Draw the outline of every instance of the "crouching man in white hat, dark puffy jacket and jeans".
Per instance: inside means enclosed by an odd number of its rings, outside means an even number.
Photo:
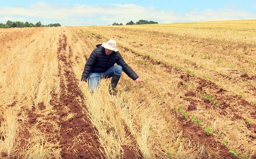
[[[114,66],[114,64],[117,64]],[[96,45],[96,48],[92,51],[88,58],[82,78],[78,86],[85,84],[87,81],[91,92],[95,87],[99,87],[100,79],[110,78],[111,84],[109,92],[116,95],[114,88],[121,77],[122,71],[124,71],[131,79],[136,82],[144,82],[139,76],[125,63],[123,57],[116,48],[116,41],[110,39],[106,43]]]

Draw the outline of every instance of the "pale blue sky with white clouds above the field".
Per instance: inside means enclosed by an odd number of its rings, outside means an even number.
[[[141,19],[158,23],[256,19],[256,0],[0,0],[0,23],[91,26]]]

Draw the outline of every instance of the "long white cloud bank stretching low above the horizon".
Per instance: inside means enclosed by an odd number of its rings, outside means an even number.
[[[113,4],[107,6],[91,5],[50,5],[37,2],[28,7],[0,7],[1,22],[7,20],[26,20],[29,22],[41,21],[42,24],[61,23],[62,25],[108,25],[113,22],[126,24],[145,19],[160,23],[188,22],[188,21],[213,21],[234,19],[256,19],[256,14],[246,11],[235,11],[231,9],[211,10],[198,9],[189,10],[178,14],[175,11],[158,10],[154,7],[142,7],[134,4]]]

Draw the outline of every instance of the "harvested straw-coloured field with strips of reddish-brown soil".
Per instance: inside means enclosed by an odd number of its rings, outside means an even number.
[[[109,39],[125,73],[78,87]],[[0,158],[256,158],[256,20],[0,29]]]

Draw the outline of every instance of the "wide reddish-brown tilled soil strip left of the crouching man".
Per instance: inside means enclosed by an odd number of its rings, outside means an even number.
[[[99,152],[100,143],[95,135],[90,121],[82,113],[82,107],[86,107],[83,102],[81,92],[77,89],[69,55],[66,53],[67,38],[66,35],[60,37],[59,48],[57,52],[59,60],[60,76],[60,99],[54,94],[50,101],[51,105],[58,110],[60,119],[58,121],[60,129],[60,145],[62,148],[62,158],[101,158]],[[80,102],[78,101],[80,99]],[[64,120],[67,115],[72,114],[68,120]]]

